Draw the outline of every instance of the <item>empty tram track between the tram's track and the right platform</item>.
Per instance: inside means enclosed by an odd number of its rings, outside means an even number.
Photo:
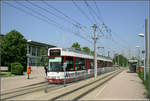
[[[115,73],[108,74],[100,79],[97,79],[96,81],[90,82],[88,84],[85,84],[83,86],[77,87],[71,91],[65,92],[59,96],[55,96],[49,100],[79,100],[80,98],[84,97],[88,93],[95,90],[97,87],[103,85],[119,73],[121,73],[122,70],[116,71]]]

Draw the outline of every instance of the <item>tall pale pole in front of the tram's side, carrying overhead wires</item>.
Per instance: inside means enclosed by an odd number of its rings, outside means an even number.
[[[97,53],[96,53],[96,40],[97,40],[97,37],[96,37],[96,24],[94,24],[94,76],[95,78],[97,77]]]

